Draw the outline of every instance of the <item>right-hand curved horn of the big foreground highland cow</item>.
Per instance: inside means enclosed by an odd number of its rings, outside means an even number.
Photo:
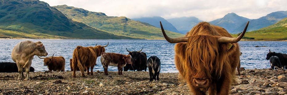
[[[247,30],[248,24],[249,24],[249,21],[247,22],[243,32],[238,37],[230,38],[230,37],[220,36],[220,37],[218,37],[218,42],[219,43],[237,43],[244,36],[244,34],[245,34],[246,30]]]

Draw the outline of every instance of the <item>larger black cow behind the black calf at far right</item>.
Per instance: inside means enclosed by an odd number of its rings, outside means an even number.
[[[284,69],[286,68],[285,66],[287,66],[287,54],[271,52],[269,49],[269,53],[267,54],[266,59],[269,60],[271,56],[277,56],[280,59],[281,65],[284,67]]]

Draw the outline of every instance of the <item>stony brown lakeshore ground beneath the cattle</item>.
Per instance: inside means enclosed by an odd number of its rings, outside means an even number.
[[[269,69],[247,69],[236,76],[231,86],[234,95],[284,95],[287,92],[287,71]],[[186,84],[177,80],[178,73],[161,73],[159,81],[149,82],[148,72],[128,71],[95,72],[85,78],[77,72],[30,72],[29,81],[16,80],[18,73],[0,73],[0,95],[2,94],[96,94],[96,95],[187,95]],[[286,94],[287,95],[287,94]]]

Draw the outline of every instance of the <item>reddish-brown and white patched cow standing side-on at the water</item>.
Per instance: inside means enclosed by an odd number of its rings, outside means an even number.
[[[123,75],[123,67],[126,66],[126,64],[131,64],[131,55],[103,52],[101,54],[101,62],[106,75],[108,75],[108,66],[117,66],[118,74]]]

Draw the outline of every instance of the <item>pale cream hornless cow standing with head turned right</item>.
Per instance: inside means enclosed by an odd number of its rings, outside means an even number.
[[[30,66],[34,55],[47,56],[48,53],[42,42],[32,42],[29,40],[18,43],[11,54],[12,60],[17,64],[19,77],[18,80],[24,78],[23,68],[26,69],[26,79],[29,80]]]

